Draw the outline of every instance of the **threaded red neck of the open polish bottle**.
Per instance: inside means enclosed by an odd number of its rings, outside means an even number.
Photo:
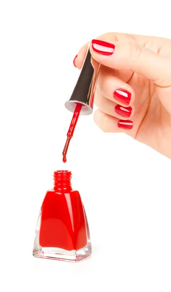
[[[53,180],[55,191],[70,191],[72,189],[71,172],[68,170],[54,171]]]

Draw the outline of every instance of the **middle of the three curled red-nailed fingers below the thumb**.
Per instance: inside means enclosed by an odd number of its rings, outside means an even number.
[[[104,113],[123,120],[131,119],[135,113],[134,105],[123,107],[105,98],[98,89],[95,94],[95,105]]]

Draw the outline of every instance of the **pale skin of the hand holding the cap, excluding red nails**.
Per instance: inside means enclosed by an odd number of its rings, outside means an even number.
[[[104,132],[125,132],[171,159],[171,39],[107,33],[96,39],[115,45],[112,55],[93,50],[92,58],[101,64],[95,93],[94,121]],[[75,59],[81,69],[88,44]],[[129,105],[114,97],[114,91],[131,93]],[[117,105],[131,108],[124,117]],[[118,127],[121,120],[133,121],[132,129]]]

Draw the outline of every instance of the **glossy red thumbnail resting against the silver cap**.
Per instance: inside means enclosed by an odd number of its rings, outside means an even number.
[[[112,55],[115,50],[114,44],[110,44],[103,40],[93,39],[91,43],[93,51],[102,55]]]

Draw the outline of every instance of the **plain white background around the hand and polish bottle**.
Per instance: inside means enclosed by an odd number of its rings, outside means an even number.
[[[0,291],[171,291],[171,161],[81,116],[62,163],[79,71],[105,32],[171,38],[168,1],[0,1]],[[56,169],[73,173],[93,254],[76,264],[32,256]]]

